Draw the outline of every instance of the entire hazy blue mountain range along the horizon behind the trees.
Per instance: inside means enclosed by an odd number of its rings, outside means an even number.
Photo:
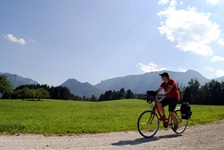
[[[71,93],[78,96],[91,97],[92,95],[99,97],[105,91],[108,90],[120,90],[124,88],[125,90],[132,90],[134,93],[145,93],[147,90],[157,89],[162,80],[159,76],[163,71],[155,71],[150,73],[144,73],[139,75],[128,75],[124,77],[116,77],[112,79],[107,79],[101,81],[96,85],[91,85],[88,82],[82,83],[76,79],[68,79],[60,86],[67,87]],[[166,71],[169,73],[170,77],[175,79],[179,86],[187,86],[188,82],[191,79],[197,79],[201,85],[204,85],[206,82],[211,81],[210,79],[205,78],[199,72],[194,70],[188,70],[186,72],[174,72]],[[0,73],[6,75],[8,81],[13,85],[13,88],[22,85],[22,84],[38,84],[37,81],[34,81],[29,78],[24,78],[16,74],[10,73]],[[218,82],[224,81],[224,76],[220,78],[215,78]]]

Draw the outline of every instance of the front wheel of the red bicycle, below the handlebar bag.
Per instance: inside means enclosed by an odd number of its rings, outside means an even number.
[[[159,129],[159,118],[151,110],[144,111],[138,118],[138,132],[145,138],[153,137]]]

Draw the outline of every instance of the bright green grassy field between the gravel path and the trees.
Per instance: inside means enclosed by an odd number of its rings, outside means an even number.
[[[0,100],[0,134],[64,135],[137,131],[144,100],[81,102],[62,100]],[[224,106],[192,105],[190,125],[224,119]]]

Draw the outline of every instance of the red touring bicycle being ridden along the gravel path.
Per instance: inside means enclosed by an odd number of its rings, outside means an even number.
[[[152,107],[152,109],[142,112],[141,115],[139,116],[137,123],[139,133],[145,138],[153,137],[158,132],[160,121],[163,122],[164,127],[169,126],[175,133],[177,134],[183,133],[187,128],[188,120],[181,118],[180,108],[176,108],[174,111],[178,120],[178,129],[175,131],[174,121],[170,116],[170,114],[168,118],[164,118],[161,112],[158,110],[157,104],[161,100],[159,98],[160,96],[158,94],[154,96],[152,95],[147,96],[147,102],[149,104],[155,102],[155,104]]]

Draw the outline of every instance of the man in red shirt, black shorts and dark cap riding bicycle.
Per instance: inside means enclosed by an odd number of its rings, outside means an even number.
[[[174,121],[174,130],[176,131],[178,128],[178,123],[174,110],[176,108],[178,101],[180,100],[180,93],[177,87],[177,83],[174,79],[169,78],[169,74],[167,72],[163,72],[162,74],[159,75],[161,76],[163,82],[160,85],[160,87],[156,90],[156,92],[164,90],[165,92],[160,95],[165,96],[165,98],[158,103],[158,108],[159,111],[162,113],[163,117],[166,119],[166,114],[163,107],[167,105],[169,106],[169,114],[171,115]],[[164,127],[167,126],[165,126],[164,124]]]

